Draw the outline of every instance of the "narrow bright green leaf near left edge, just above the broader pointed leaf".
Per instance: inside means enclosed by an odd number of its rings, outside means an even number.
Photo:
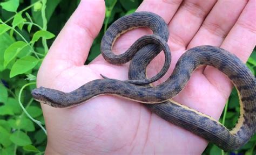
[[[11,44],[4,52],[4,67],[6,67],[12,59],[15,59],[18,53],[28,44],[24,41],[17,41]]]

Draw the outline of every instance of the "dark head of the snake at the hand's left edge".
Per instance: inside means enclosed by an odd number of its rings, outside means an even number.
[[[38,102],[48,104],[55,108],[64,108],[62,103],[65,100],[65,93],[63,91],[39,87],[33,89],[31,94]]]

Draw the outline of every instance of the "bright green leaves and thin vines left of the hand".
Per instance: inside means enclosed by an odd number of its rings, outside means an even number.
[[[45,150],[42,110],[30,91],[36,87],[38,68],[48,52],[47,40],[55,37],[47,30],[46,3],[0,3],[0,154],[43,154]]]

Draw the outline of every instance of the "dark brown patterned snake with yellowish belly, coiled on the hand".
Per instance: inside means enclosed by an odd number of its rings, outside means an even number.
[[[114,54],[112,48],[116,39],[126,31],[137,27],[147,27],[153,34],[139,38],[123,54]],[[165,121],[214,143],[224,151],[237,150],[245,145],[256,131],[256,80],[250,69],[237,56],[223,48],[210,45],[197,46],[181,55],[173,73],[166,81],[152,86],[150,83],[161,78],[166,73],[166,68],[170,66],[168,38],[169,30],[163,18],[152,12],[131,13],[110,25],[100,44],[100,50],[107,62],[120,65],[130,61],[129,80],[121,81],[103,76],[104,79],[87,82],[70,92],[39,87],[33,89],[31,94],[35,100],[55,108],[73,107],[98,95],[117,95],[143,103]],[[156,76],[147,79],[147,65],[162,50],[165,53],[163,68]],[[232,130],[227,129],[213,117],[172,99],[184,89],[192,73],[202,65],[218,68],[238,90],[240,117]]]

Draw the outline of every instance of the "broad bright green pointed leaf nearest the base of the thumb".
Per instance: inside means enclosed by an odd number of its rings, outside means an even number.
[[[11,68],[10,78],[30,71],[37,63],[38,60],[30,55],[17,60]]]

